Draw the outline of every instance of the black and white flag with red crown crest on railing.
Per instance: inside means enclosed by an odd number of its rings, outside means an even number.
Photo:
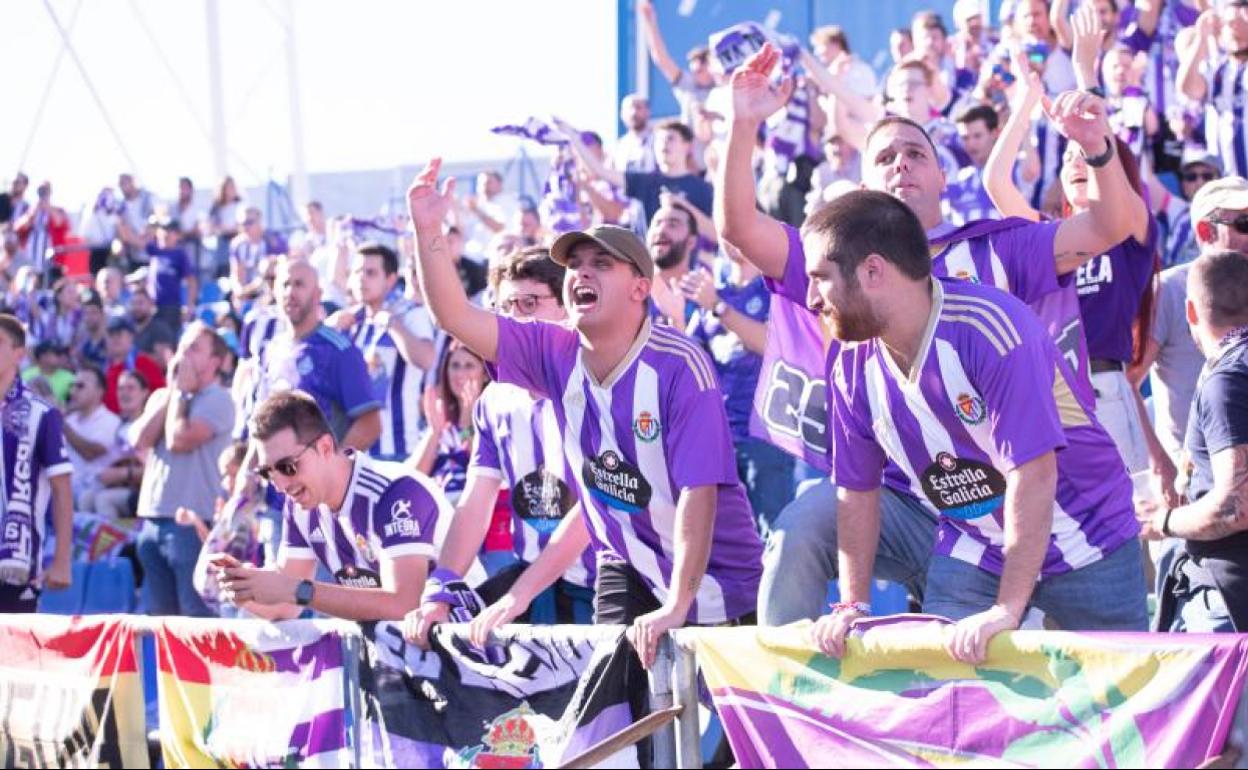
[[[429,651],[396,624],[366,635],[366,766],[553,768],[634,721],[623,628],[534,629],[489,659],[447,628]],[[602,766],[636,768],[635,748]]]

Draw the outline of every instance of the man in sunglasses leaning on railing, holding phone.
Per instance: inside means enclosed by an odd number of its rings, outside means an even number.
[[[421,603],[434,533],[451,504],[402,463],[339,451],[314,398],[270,396],[251,418],[256,473],[285,495],[277,564],[218,554],[222,598],[282,620],[303,608],[346,620],[399,620]],[[332,583],[313,582],[317,565]]]

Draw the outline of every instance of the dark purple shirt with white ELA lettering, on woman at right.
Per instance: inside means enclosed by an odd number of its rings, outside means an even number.
[[[1151,290],[1156,258],[1157,220],[1149,216],[1143,243],[1127,238],[1075,272],[1092,358],[1131,362],[1132,323]]]

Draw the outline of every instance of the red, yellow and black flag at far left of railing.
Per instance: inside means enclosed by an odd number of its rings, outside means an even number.
[[[122,616],[0,615],[5,768],[147,768],[144,685]]]

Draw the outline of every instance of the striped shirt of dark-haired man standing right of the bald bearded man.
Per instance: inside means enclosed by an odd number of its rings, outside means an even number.
[[[433,322],[423,305],[401,300],[389,307],[389,314],[409,333],[433,341]],[[381,459],[406,459],[421,439],[424,371],[403,358],[388,327],[363,308],[357,311],[348,337],[364,357],[373,401],[382,404],[382,434],[368,453]]]

